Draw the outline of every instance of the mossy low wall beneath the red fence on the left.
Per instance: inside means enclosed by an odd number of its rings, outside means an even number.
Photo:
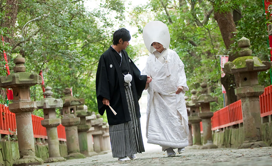
[[[59,144],[59,150],[62,157],[67,155],[67,146]],[[49,157],[48,145],[36,144],[36,156],[43,160]],[[15,160],[20,158],[18,142],[0,141],[0,166],[12,166]]]

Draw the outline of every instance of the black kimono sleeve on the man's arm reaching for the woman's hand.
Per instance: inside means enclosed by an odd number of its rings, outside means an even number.
[[[135,82],[135,87],[137,91],[137,97],[138,100],[141,98],[143,90],[146,87],[146,80],[147,76],[146,75],[141,75],[140,70],[136,67],[136,65],[131,61],[131,68],[132,68],[132,73],[133,73],[133,79]]]

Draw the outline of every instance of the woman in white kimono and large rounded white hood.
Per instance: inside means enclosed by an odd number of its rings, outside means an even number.
[[[160,21],[151,21],[143,29],[146,48],[151,53],[142,74],[151,76],[148,90],[146,137],[148,143],[162,146],[168,157],[185,152],[189,134],[184,100],[186,84],[184,64],[169,49],[170,34]]]

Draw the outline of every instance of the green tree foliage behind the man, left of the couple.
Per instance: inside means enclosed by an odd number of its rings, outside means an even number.
[[[16,25],[12,27],[15,32],[12,43],[0,48],[8,51],[11,58],[18,54],[26,58],[27,72],[42,70],[45,86],[53,88],[53,97],[61,98],[65,87],[73,87],[73,95],[84,98],[88,108],[97,112],[97,63],[110,46],[112,33],[122,26],[113,27],[116,20],[123,19],[121,13],[124,12],[122,2],[112,6],[114,3],[101,2],[100,9],[90,12],[81,0],[20,1]],[[103,8],[118,11],[115,13],[120,17],[111,20]],[[4,11],[1,14],[4,15]],[[1,27],[0,31],[4,29],[8,28]],[[132,48],[128,51],[134,52]],[[31,99],[42,98],[41,86],[31,87]],[[42,115],[40,111],[35,112]]]

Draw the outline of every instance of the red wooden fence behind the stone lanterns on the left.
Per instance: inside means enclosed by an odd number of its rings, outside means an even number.
[[[45,138],[47,139],[46,128],[41,125],[41,121],[44,119],[42,117],[31,115],[33,124],[33,134],[34,138]],[[59,125],[58,130],[58,140],[66,141],[66,135],[64,126]],[[0,134],[17,134],[16,133],[16,119],[15,114],[10,112],[8,107],[0,104]]]

